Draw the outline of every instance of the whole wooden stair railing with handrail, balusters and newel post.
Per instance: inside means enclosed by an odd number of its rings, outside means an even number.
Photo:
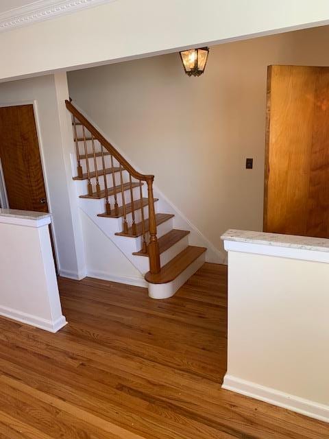
[[[96,158],[96,152],[95,152],[95,140],[97,140],[101,146],[101,162],[102,162],[102,170],[101,174],[103,175],[104,179],[104,193],[106,198],[106,215],[111,215],[111,208],[109,203],[109,189],[108,189],[108,182],[106,179],[106,165],[105,165],[105,159],[104,159],[104,153],[103,148],[105,148],[110,153],[110,171],[112,173],[112,182],[113,182],[113,188],[111,190],[111,195],[114,196],[114,213],[115,215],[119,215],[119,206],[117,202],[117,192],[121,193],[121,200],[122,200],[122,212],[123,212],[123,233],[128,236],[134,236],[137,235],[137,227],[135,223],[135,204],[134,204],[134,187],[136,187],[136,182],[132,182],[132,177],[136,178],[138,180],[138,186],[139,186],[139,193],[141,196],[140,205],[141,205],[141,231],[142,231],[142,250],[145,253],[149,254],[149,271],[151,274],[158,274],[160,272],[160,251],[159,251],[159,244],[158,244],[158,237],[156,236],[156,212],[154,209],[154,195],[153,195],[153,182],[154,182],[154,176],[151,175],[144,175],[140,172],[136,171],[128,163],[123,156],[108,142],[105,137],[82,115],[82,113],[75,108],[73,104],[71,104],[70,101],[65,101],[66,108],[71,112],[73,115],[73,129],[75,134],[75,145],[77,150],[77,173],[78,177],[83,178],[82,173],[82,166],[80,164],[80,151],[79,151],[79,145],[78,141],[83,140],[84,141],[84,152],[85,152],[85,158],[86,158],[86,170],[87,170],[87,178],[88,178],[88,195],[93,197],[93,187],[91,184],[90,178],[92,178],[95,174],[96,177],[96,193],[97,196],[101,196],[101,189],[99,186],[99,171],[97,169],[97,158]],[[77,138],[77,127],[76,127],[76,119],[80,122],[82,125],[82,134],[83,139]],[[86,130],[90,132],[91,139],[86,139]],[[88,164],[88,150],[87,150],[87,140],[92,141],[92,147],[93,152],[90,154],[94,160],[95,165],[95,171],[94,174],[90,173],[89,164]],[[119,163],[119,176],[120,176],[120,184],[117,186],[117,182],[115,180],[114,176],[114,165],[113,165],[113,157],[117,160]],[[127,171],[129,174],[129,182],[123,183],[123,171]],[[147,195],[148,195],[148,208],[149,208],[149,244],[147,245],[146,242],[146,235],[147,235],[147,229],[146,229],[146,222],[144,217],[144,205],[143,205],[143,193],[142,193],[142,181],[147,182]],[[127,186],[126,186],[127,185]],[[118,189],[117,189],[118,188]],[[126,188],[130,189],[130,205],[127,205],[125,202],[125,190]],[[119,190],[120,189],[120,190]],[[127,209],[130,209],[130,211],[127,211]],[[127,224],[127,213],[131,212],[132,214],[132,226],[131,226],[131,232],[130,228]]]

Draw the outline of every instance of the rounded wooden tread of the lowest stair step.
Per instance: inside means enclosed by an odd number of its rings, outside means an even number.
[[[151,274],[148,272],[145,274],[145,280],[149,283],[169,283],[175,280],[188,265],[191,265],[204,253],[207,249],[205,247],[188,246],[180,254],[171,259],[169,263],[161,268],[160,273]]]

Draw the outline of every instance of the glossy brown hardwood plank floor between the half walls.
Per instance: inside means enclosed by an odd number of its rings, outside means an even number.
[[[329,438],[329,425],[221,390],[226,268],[168,300],[60,278],[57,334],[0,318],[0,439]]]

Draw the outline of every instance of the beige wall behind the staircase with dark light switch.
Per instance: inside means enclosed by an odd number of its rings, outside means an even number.
[[[329,65],[329,28],[211,47],[206,73],[178,54],[69,73],[71,97],[221,249],[228,228],[261,230],[267,65]],[[245,158],[254,169],[245,169]]]

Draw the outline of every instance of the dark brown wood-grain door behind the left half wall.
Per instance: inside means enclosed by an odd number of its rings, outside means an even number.
[[[0,158],[10,209],[48,212],[33,105],[0,108]]]

